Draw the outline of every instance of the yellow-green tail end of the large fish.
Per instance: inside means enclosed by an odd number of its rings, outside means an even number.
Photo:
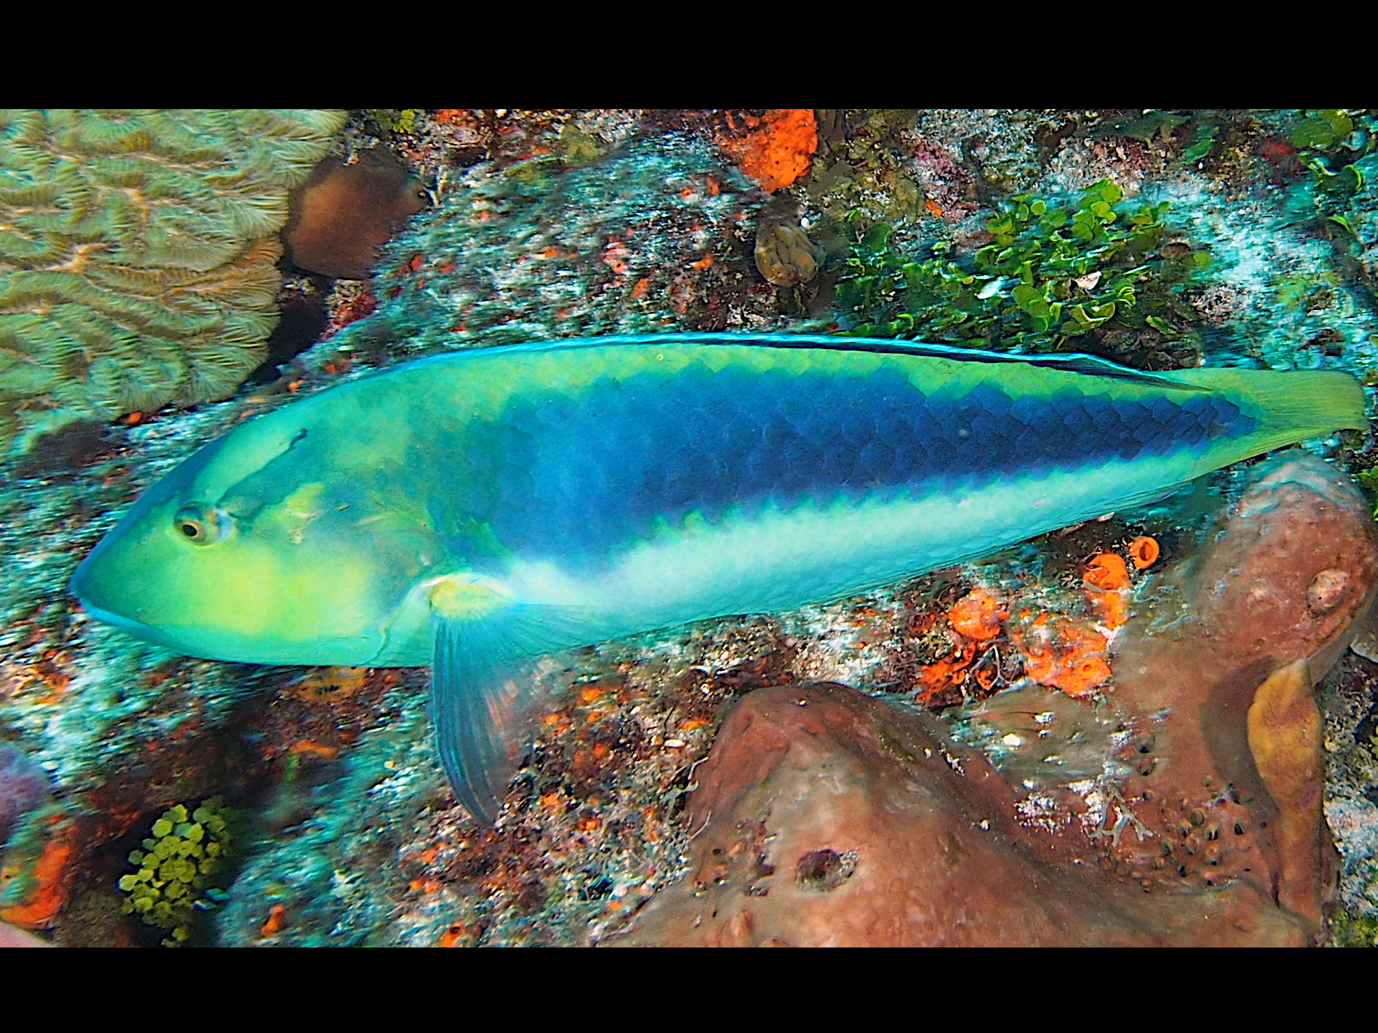
[[[1220,439],[1203,472],[1335,430],[1368,426],[1363,386],[1338,371],[1180,369],[1166,376],[1224,397],[1251,424]]]

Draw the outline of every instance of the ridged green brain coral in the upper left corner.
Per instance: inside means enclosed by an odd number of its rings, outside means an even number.
[[[0,455],[230,394],[333,112],[0,112]]]

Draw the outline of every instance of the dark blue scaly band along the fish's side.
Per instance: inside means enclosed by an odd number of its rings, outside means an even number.
[[[1039,470],[1196,450],[1257,421],[1193,394],[1010,398],[978,386],[925,395],[898,369],[864,379],[704,369],[666,383],[601,379],[576,395],[514,397],[470,428],[464,505],[507,548],[599,565],[689,512],[893,497]],[[714,387],[704,390],[703,377]]]

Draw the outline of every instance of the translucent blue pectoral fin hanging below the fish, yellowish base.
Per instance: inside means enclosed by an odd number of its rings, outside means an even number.
[[[582,643],[580,624],[566,607],[513,602],[480,578],[442,578],[431,594],[435,745],[459,802],[485,824],[496,821],[548,698],[537,664]]]

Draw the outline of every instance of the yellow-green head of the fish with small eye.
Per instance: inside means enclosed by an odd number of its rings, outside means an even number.
[[[386,470],[361,482],[300,406],[154,483],[72,578],[91,616],[212,660],[369,662],[427,544]]]

